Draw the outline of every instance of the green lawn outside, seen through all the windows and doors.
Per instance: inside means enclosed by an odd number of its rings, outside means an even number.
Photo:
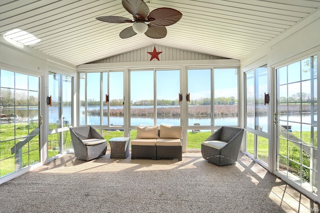
[[[0,177],[8,175],[16,171],[16,169],[27,167],[33,163],[39,162],[39,139],[38,134],[35,134],[33,138],[22,146],[20,153],[20,166],[16,168],[15,155],[11,154],[11,148],[15,146],[15,143],[23,140],[29,132],[32,132],[37,127],[34,124],[27,123],[9,123],[0,125]],[[56,128],[55,124],[50,126],[50,129]],[[300,137],[300,132],[292,132],[296,137]],[[71,148],[71,137],[69,131],[63,132],[63,151]],[[114,137],[123,137],[123,131],[119,130],[103,130],[103,138],[107,141]],[[201,149],[201,143],[211,135],[211,131],[201,132],[187,132],[187,149]],[[314,132],[316,136],[317,133]],[[53,157],[59,153],[59,137],[60,133],[48,135],[48,157]],[[14,140],[16,138],[16,140]],[[136,138],[136,130],[130,131],[131,140]],[[302,132],[301,138],[307,144],[310,144],[310,133]],[[247,133],[246,135],[246,150],[253,155],[254,135]],[[317,147],[317,138],[315,138],[315,147]],[[287,140],[279,140],[279,154],[283,157],[280,158],[280,167],[289,165],[289,170],[293,174],[300,175],[300,165],[295,162],[300,162],[300,149],[297,144],[287,142]],[[110,145],[107,145],[110,147]],[[268,139],[258,136],[258,159],[268,163]],[[288,155],[286,155],[288,150]],[[288,159],[288,160],[287,160]],[[19,161],[17,161],[19,162]],[[306,152],[302,152],[302,165],[308,167],[310,165],[310,156]],[[305,167],[302,168],[302,177],[304,180],[309,179],[309,170]]]

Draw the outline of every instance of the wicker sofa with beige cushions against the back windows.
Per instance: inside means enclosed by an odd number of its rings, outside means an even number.
[[[182,126],[138,126],[131,140],[131,159],[182,160]]]

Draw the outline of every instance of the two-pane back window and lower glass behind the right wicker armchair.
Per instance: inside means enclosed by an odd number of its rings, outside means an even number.
[[[188,69],[187,91],[187,149],[200,149],[212,126],[238,126],[237,68]]]

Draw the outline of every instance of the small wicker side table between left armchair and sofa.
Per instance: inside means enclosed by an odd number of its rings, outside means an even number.
[[[109,140],[111,154],[110,158],[127,158],[129,156],[130,138],[117,137]]]

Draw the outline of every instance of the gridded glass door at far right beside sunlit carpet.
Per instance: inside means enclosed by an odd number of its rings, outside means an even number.
[[[276,171],[317,194],[317,57],[276,69]]]

